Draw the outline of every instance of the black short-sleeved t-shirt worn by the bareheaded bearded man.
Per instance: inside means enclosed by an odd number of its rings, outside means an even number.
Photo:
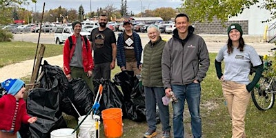
[[[116,43],[115,33],[106,28],[99,31],[99,28],[92,30],[89,41],[93,43],[94,63],[106,63],[112,61],[111,43]]]

